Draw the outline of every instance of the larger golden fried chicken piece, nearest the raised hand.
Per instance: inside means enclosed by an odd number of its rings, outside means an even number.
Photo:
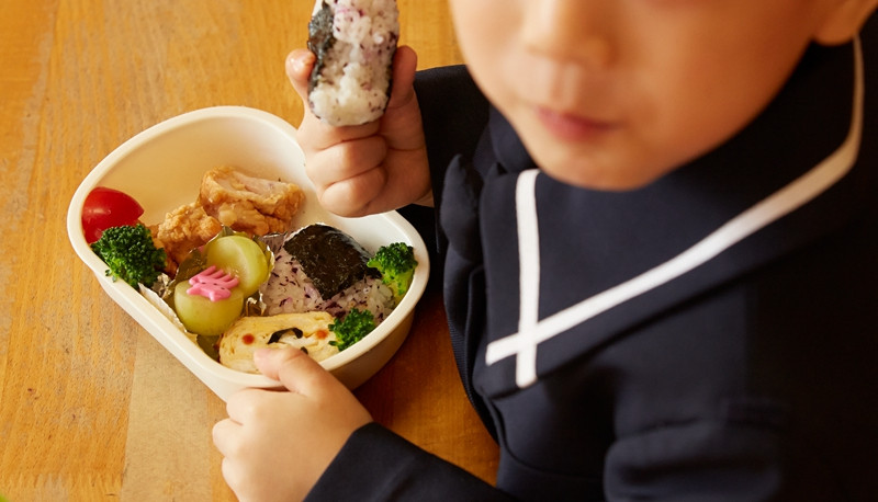
[[[207,171],[199,194],[209,215],[256,236],[290,230],[304,198],[293,183],[249,176],[227,166]]]

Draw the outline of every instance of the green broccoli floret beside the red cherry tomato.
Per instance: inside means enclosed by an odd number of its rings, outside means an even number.
[[[134,288],[137,283],[151,286],[165,266],[165,250],[156,248],[149,229],[140,223],[108,228],[91,250],[110,267],[108,276]]]

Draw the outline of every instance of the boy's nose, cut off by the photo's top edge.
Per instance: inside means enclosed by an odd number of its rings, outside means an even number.
[[[543,57],[607,67],[614,60],[612,34],[618,0],[526,0],[521,20],[525,46]]]

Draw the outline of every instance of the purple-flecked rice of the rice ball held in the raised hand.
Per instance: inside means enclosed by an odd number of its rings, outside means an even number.
[[[308,94],[311,109],[334,126],[372,122],[387,105],[389,69],[399,34],[396,1],[325,1],[335,12],[335,43]]]

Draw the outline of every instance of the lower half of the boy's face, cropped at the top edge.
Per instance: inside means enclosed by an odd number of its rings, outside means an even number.
[[[774,98],[832,0],[451,0],[476,82],[537,163],[641,186]]]

